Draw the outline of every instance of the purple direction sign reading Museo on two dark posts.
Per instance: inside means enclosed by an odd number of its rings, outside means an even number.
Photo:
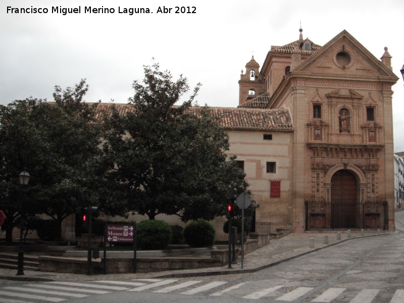
[[[106,224],[104,229],[104,274],[107,273],[107,242],[133,242],[133,272],[136,273],[136,225]]]

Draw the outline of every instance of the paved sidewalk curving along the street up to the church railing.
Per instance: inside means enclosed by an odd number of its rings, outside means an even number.
[[[192,270],[170,270],[153,273],[128,273],[128,274],[107,274],[107,275],[78,275],[54,272],[39,272],[24,270],[23,276],[16,276],[16,270],[0,269],[0,279],[20,280],[20,281],[93,281],[93,280],[127,280],[139,278],[155,277],[195,277],[195,276],[213,276],[225,274],[239,274],[256,272],[281,262],[285,262],[299,256],[309,254],[310,252],[323,249],[330,245],[337,245],[344,241],[355,241],[362,237],[374,237],[388,235],[388,232],[351,232],[348,238],[347,232],[341,232],[341,240],[337,240],[336,232],[329,233],[291,233],[279,239],[273,239],[268,245],[265,245],[255,251],[246,254],[241,268],[241,257],[237,264],[228,266],[202,268]],[[324,236],[328,235],[328,244],[324,244]],[[310,238],[314,238],[314,248],[310,248]],[[312,240],[313,241],[313,240]]]

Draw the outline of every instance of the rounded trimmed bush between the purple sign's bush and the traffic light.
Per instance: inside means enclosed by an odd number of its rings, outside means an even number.
[[[183,231],[185,242],[192,247],[210,247],[215,243],[216,231],[208,221],[192,221]]]

